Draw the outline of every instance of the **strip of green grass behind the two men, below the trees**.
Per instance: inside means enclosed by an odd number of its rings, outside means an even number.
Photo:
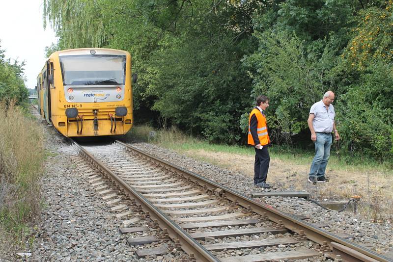
[[[150,132],[154,131],[155,135],[151,136]],[[150,142],[161,145],[168,149],[184,153],[195,150],[205,150],[209,152],[222,152],[236,155],[253,156],[255,151],[249,146],[212,144],[198,139],[191,135],[185,134],[176,127],[164,130],[155,130],[150,126],[134,126],[127,134],[128,140]],[[335,146],[335,145],[333,145]],[[309,165],[314,157],[313,150],[294,149],[287,146],[272,145],[269,148],[271,157],[285,161],[288,164]],[[392,176],[392,164],[380,163],[372,158],[360,157],[340,157],[332,150],[329,158],[329,164],[335,166],[337,170],[367,172],[368,170],[385,173]]]

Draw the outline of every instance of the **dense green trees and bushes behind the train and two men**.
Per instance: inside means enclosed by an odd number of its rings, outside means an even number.
[[[392,162],[392,5],[45,0],[44,13],[59,36],[48,52],[92,46],[132,54],[139,123],[240,144],[254,98],[263,93],[271,98],[273,142],[312,148],[309,108],[332,90],[342,139],[337,154]]]

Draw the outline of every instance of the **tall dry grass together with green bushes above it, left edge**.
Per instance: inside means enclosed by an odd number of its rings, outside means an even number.
[[[0,49],[0,241],[11,256],[32,243],[42,204],[43,136],[28,115],[23,66]]]

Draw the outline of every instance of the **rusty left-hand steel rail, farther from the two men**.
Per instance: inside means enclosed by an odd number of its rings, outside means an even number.
[[[149,216],[156,219],[160,228],[167,229],[169,237],[175,242],[176,239],[180,241],[182,249],[191,256],[194,254],[197,261],[205,262],[220,262],[215,256],[207,251],[201,244],[194,238],[189,236],[182,228],[180,228],[175,222],[173,222],[167,215],[161,212],[159,209],[153,206],[153,204],[143,197],[138,191],[126,183],[123,179],[114,174],[109,170],[100,160],[91,155],[87,150],[80,146],[76,141],[71,139],[74,145],[82,152],[84,157],[88,158],[94,165],[99,167],[106,173],[108,179],[112,180],[121,191],[123,191],[131,199],[134,199],[141,208],[148,212]]]

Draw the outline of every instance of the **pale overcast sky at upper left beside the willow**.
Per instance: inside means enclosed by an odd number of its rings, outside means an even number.
[[[50,25],[44,30],[43,0],[1,0],[0,40],[5,58],[26,61],[26,86],[35,88],[38,72],[45,63],[45,47],[56,42]]]

